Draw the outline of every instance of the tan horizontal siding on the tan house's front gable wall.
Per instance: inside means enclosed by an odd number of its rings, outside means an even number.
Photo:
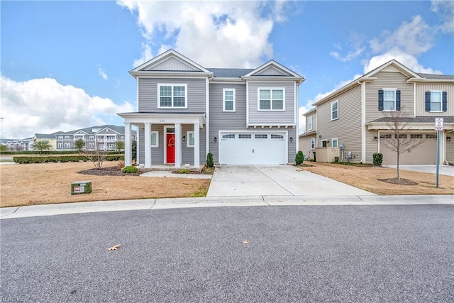
[[[386,111],[378,110],[378,91],[383,88],[395,88],[400,90],[401,111],[405,117],[414,116],[414,84],[406,83],[408,77],[400,72],[379,72],[373,82],[365,84],[366,97],[366,123],[380,119],[386,114]],[[372,155],[378,152],[378,144],[375,141],[378,136],[377,131],[366,131],[366,155],[365,162],[372,163]]]

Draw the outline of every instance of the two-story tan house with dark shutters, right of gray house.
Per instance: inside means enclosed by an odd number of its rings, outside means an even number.
[[[384,165],[395,165],[397,155],[383,141],[393,136],[389,114],[402,111],[407,123],[402,136],[423,143],[400,155],[400,164],[436,163],[436,118],[444,120],[441,162],[454,162],[454,75],[416,73],[391,60],[313,105],[304,114],[308,132],[299,141],[301,150],[318,161],[337,156],[372,163],[372,154],[382,153]]]

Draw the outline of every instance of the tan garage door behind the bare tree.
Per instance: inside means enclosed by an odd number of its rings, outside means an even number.
[[[385,135],[382,135],[385,136]],[[423,136],[423,143],[410,150],[410,152],[404,152],[399,157],[400,165],[423,165],[423,164],[436,164],[437,157],[437,140],[436,135],[431,134],[406,134],[415,140],[421,140],[419,136]],[[410,140],[411,140],[410,139]],[[380,153],[383,154],[383,165],[397,165],[397,153],[389,150],[382,143],[383,139],[380,139]]]

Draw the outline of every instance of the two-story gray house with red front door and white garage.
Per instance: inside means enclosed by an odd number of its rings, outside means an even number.
[[[126,138],[138,127],[140,165],[199,167],[208,153],[221,164],[294,162],[304,78],[287,67],[271,60],[256,69],[205,68],[167,50],[130,73],[138,111],[118,115]]]

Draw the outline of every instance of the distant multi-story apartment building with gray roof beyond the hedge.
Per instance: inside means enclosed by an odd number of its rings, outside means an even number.
[[[74,131],[59,131],[53,134],[56,150],[75,150],[74,141],[82,139],[85,150],[116,150],[116,141],[125,141],[125,127],[104,125],[92,126]],[[130,141],[135,140],[135,132],[130,136]]]

